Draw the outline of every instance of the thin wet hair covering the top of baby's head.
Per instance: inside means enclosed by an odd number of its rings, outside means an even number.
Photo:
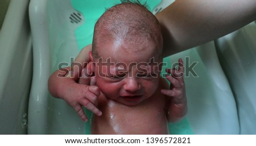
[[[106,10],[94,27],[93,57],[100,58],[96,51],[98,44],[117,38],[125,40],[125,44],[137,46],[149,40],[153,41],[159,44],[162,55],[163,38],[160,24],[148,10],[146,2],[123,0],[122,3]]]

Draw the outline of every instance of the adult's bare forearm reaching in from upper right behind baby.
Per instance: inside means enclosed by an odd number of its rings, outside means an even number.
[[[256,19],[255,0],[177,0],[156,14],[163,32],[164,55],[204,44]]]

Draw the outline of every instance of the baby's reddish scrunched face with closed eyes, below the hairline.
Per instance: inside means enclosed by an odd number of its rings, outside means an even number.
[[[105,44],[98,53],[96,81],[104,95],[123,105],[134,106],[151,97],[159,85],[162,58],[154,45],[146,50],[130,52],[129,46]],[[134,48],[131,48],[134,49]],[[103,53],[104,52],[104,53]]]

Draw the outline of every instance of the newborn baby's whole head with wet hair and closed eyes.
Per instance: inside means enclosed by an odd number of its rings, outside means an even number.
[[[108,98],[133,106],[159,84],[163,38],[155,16],[139,3],[109,8],[94,27],[90,58],[98,87]]]

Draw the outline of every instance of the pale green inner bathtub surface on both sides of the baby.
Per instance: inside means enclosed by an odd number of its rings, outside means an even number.
[[[63,100],[49,95],[47,80],[60,62],[70,65],[72,58],[76,57],[82,47],[91,44],[94,23],[104,12],[106,6],[110,7],[116,2],[119,1],[98,1],[96,5],[93,1],[31,0],[30,20],[34,71],[28,107],[28,115],[30,115],[28,117],[28,134],[90,133],[89,122],[82,122],[75,110]],[[148,2],[150,3],[150,1]],[[152,12],[158,12],[173,1],[152,2],[154,2],[153,5],[150,5]],[[216,49],[216,45],[220,46]],[[251,44],[251,47],[254,49],[255,55],[255,44]],[[222,64],[218,59],[218,55],[223,55],[221,48],[222,45],[218,41],[212,41],[164,58],[164,61],[168,62],[170,66],[178,58],[183,58],[185,66],[187,66],[187,76],[184,79],[189,110],[183,121],[170,124],[172,134],[240,134],[240,129],[244,129],[243,133],[246,134],[247,129],[254,128],[252,123],[240,125],[241,115],[244,116],[243,118],[249,115],[255,117],[255,104],[251,104],[250,108],[246,107],[251,110],[250,114],[242,113],[244,105],[237,108],[240,106],[237,104],[237,99],[242,96],[237,93],[233,95],[234,89],[229,84],[230,79],[226,78],[226,70],[225,73],[222,70]],[[232,61],[229,61],[229,64],[232,64]],[[193,74],[191,68],[189,69],[189,66],[193,65],[195,65],[193,71],[196,74]],[[243,66],[241,67],[243,68]],[[245,78],[247,77],[245,76]],[[253,80],[251,82],[255,83]],[[247,91],[245,92],[247,93]],[[253,97],[252,95],[246,99]],[[255,101],[255,98],[251,100]],[[253,122],[253,118],[251,120],[249,122]],[[255,134],[255,131],[252,133]]]

